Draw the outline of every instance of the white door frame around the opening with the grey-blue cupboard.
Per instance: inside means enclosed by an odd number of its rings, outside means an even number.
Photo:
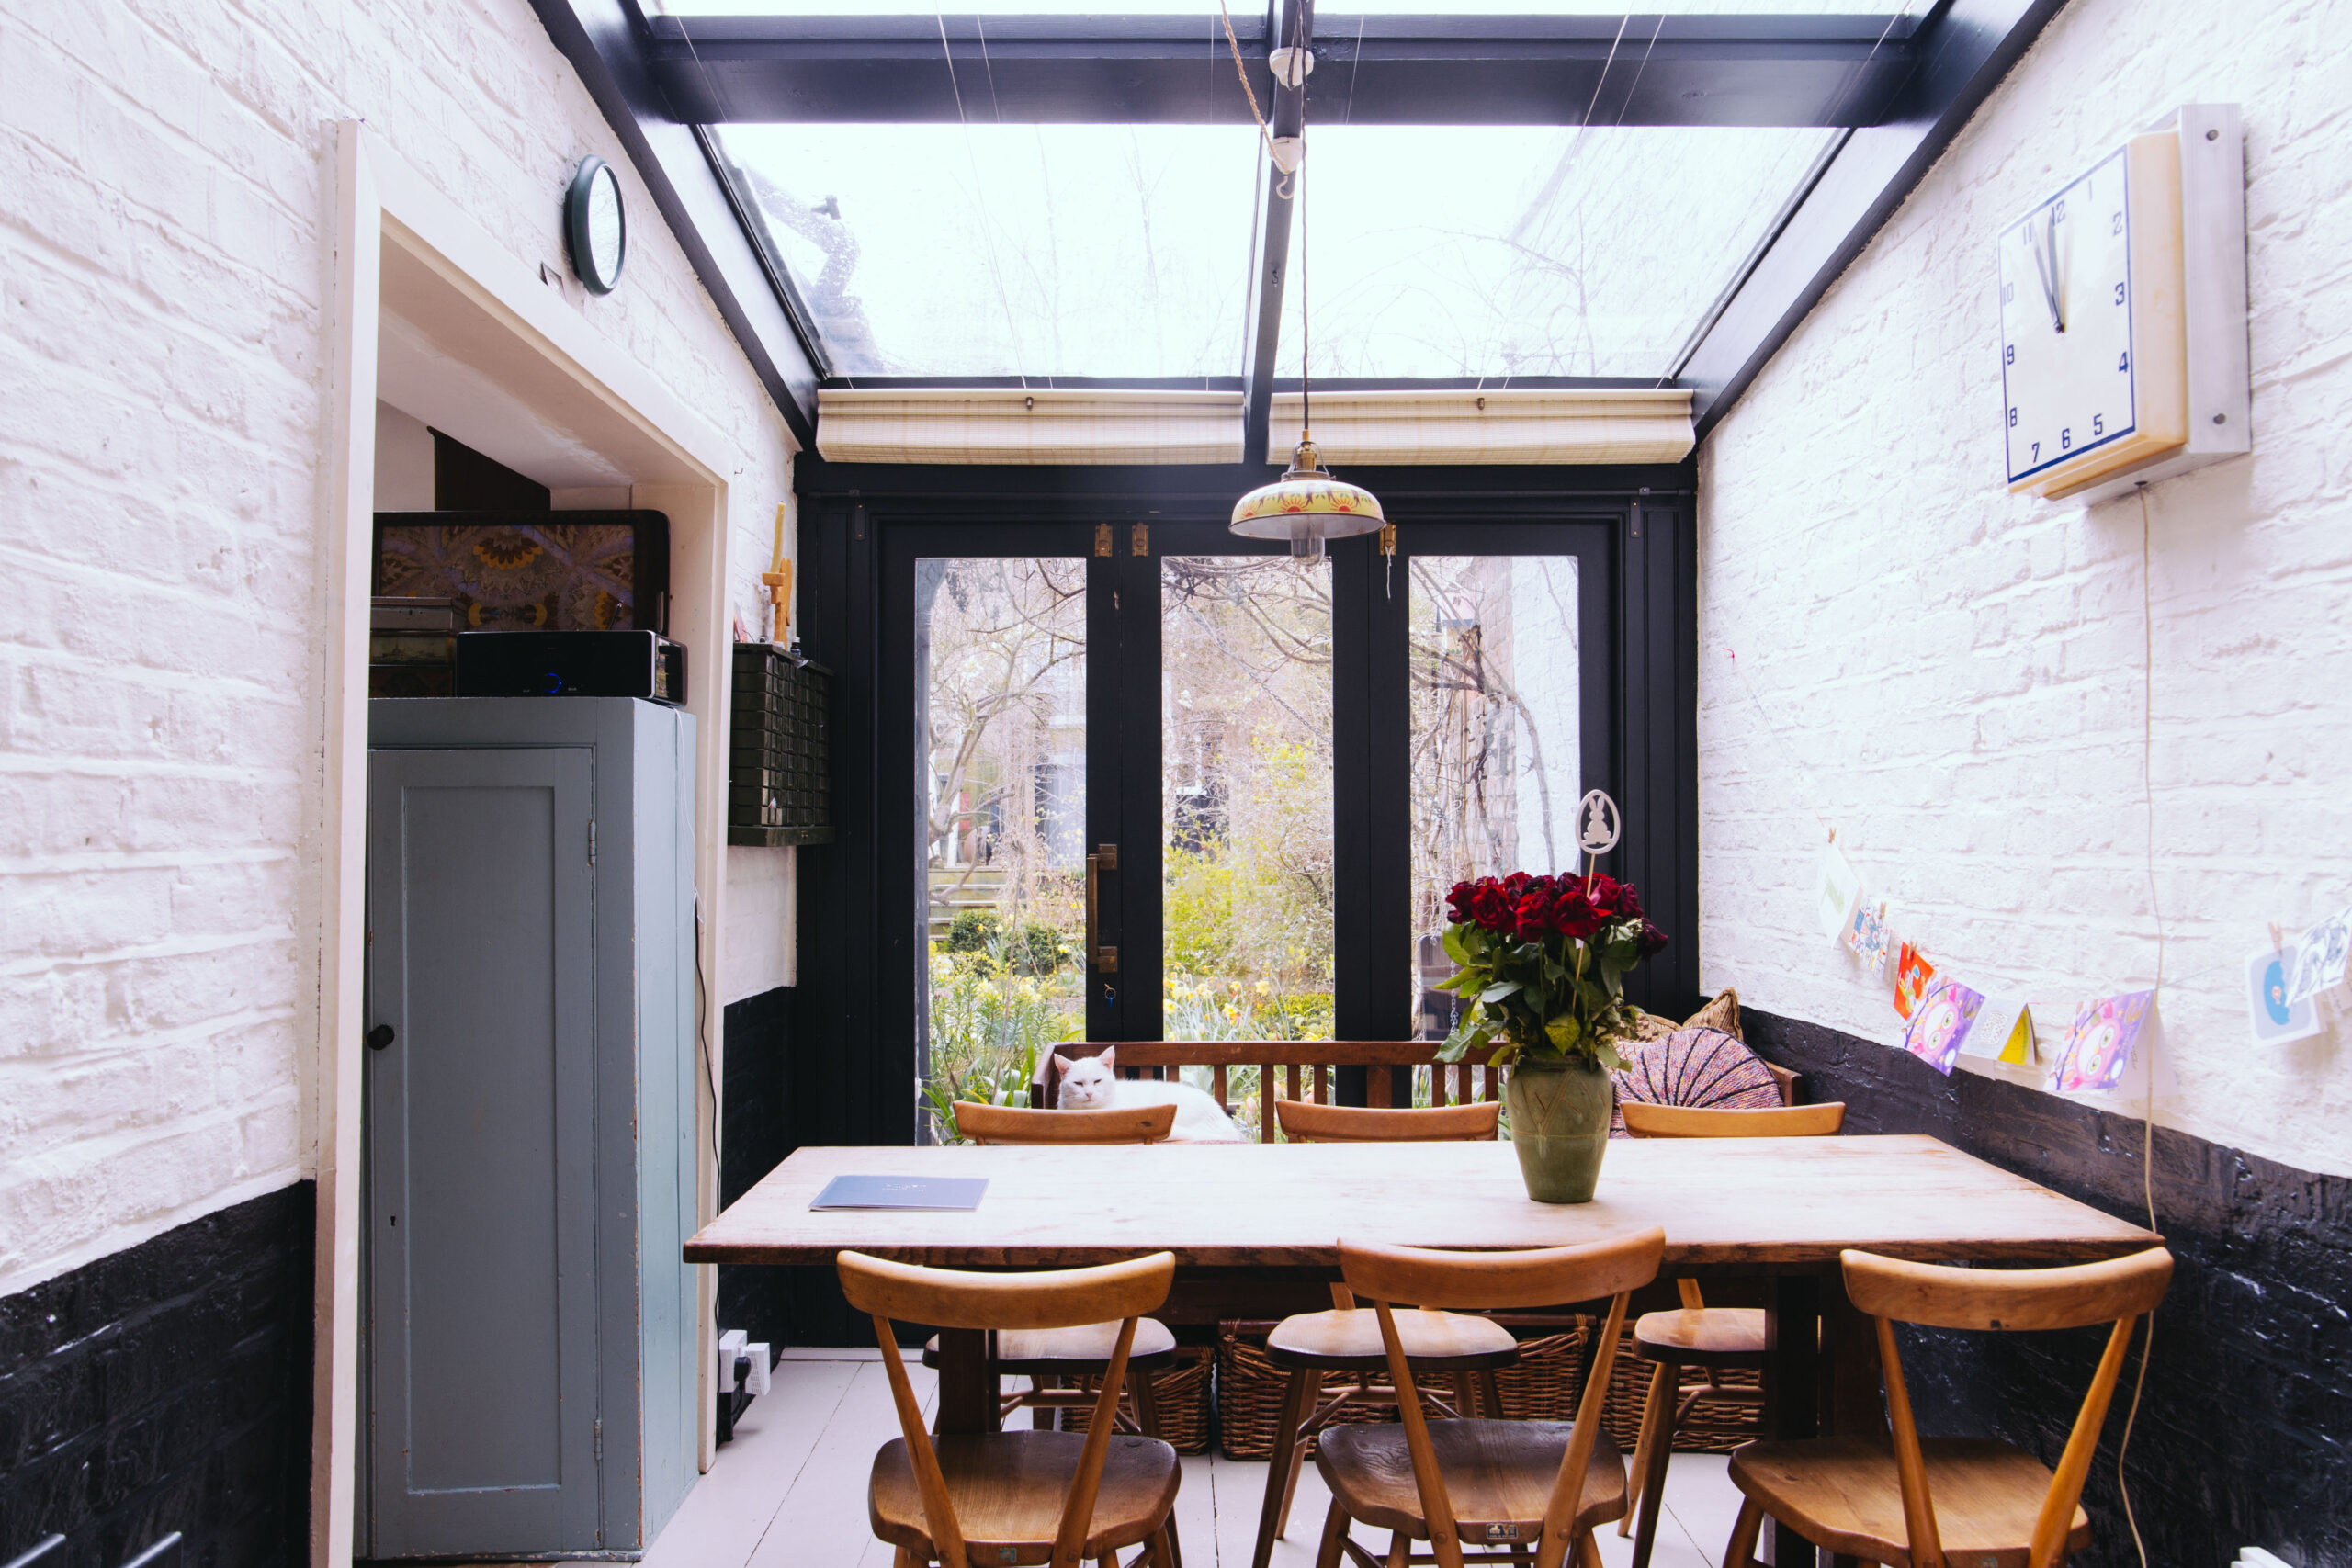
[[[367,884],[367,609],[376,512],[376,331],[381,247],[397,244],[489,313],[510,348],[536,355],[612,418],[652,437],[677,475],[640,487],[635,505],[670,515],[670,628],[687,644],[687,710],[696,715],[696,844],[701,891],[699,1032],[708,1081],[722,1074],[717,994],[727,900],[727,548],[729,447],[668,386],[630,360],[550,292],[539,273],[501,249],[360,120],[336,122],[336,228],[329,348],[327,494],[327,710],[325,809],[320,820],[320,1009],[315,1152],[318,1267],[310,1387],[310,1563],[346,1568],[353,1547],[360,1403],[360,1041]],[[548,197],[555,200],[553,193]],[[699,1072],[696,1079],[703,1079]],[[717,1206],[715,1105],[699,1098],[696,1152],[703,1220]],[[710,1345],[715,1269],[701,1269],[696,1340],[701,1363],[701,1462],[708,1469],[717,1410]]]

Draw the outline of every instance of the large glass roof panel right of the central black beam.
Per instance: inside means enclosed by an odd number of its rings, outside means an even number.
[[[1670,376],[1835,136],[1308,127],[1277,374]]]

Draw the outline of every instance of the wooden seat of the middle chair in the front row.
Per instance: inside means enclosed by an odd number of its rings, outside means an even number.
[[[1428,1429],[1454,1507],[1454,1533],[1463,1542],[1526,1544],[1543,1533],[1573,1422],[1437,1420]],[[1606,1432],[1595,1436],[1576,1509],[1581,1530],[1625,1512],[1625,1460]],[[1350,1519],[1428,1540],[1404,1427],[1331,1427],[1315,1446],[1315,1467]]]

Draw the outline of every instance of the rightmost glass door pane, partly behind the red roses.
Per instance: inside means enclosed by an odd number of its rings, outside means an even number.
[[[1454,1027],[1446,889],[1578,870],[1573,555],[1416,555],[1414,992],[1421,1039]]]

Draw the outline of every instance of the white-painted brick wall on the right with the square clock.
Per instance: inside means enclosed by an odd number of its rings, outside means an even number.
[[[2256,1051],[2241,959],[2352,903],[2352,5],[2074,0],[1700,451],[1708,987],[1900,1039],[1809,924],[1818,809],[1898,929],[2037,1001],[2147,985],[2159,1121],[2352,1173],[2352,1023]],[[2256,451],[2011,501],[1994,230],[2185,101],[2241,103]],[[1788,745],[1724,649],[1738,651]],[[1802,755],[1799,764],[1790,752]]]

